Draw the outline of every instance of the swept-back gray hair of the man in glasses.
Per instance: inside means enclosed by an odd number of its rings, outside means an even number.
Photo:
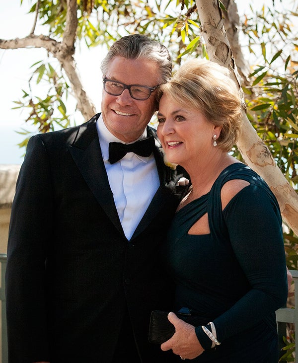
[[[172,75],[172,59],[169,51],[159,42],[142,34],[131,34],[117,40],[109,49],[101,62],[101,72],[105,76],[109,70],[109,63],[115,57],[126,59],[146,59],[155,62],[159,68],[158,83],[166,83]]]

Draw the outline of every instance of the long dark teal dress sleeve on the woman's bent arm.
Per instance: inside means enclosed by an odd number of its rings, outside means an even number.
[[[250,185],[239,192],[225,208],[224,220],[251,290],[214,320],[219,341],[274,313],[288,292],[281,218],[263,188]]]

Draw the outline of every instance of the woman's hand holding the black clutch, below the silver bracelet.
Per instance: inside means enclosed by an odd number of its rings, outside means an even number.
[[[168,314],[168,320],[175,326],[176,332],[171,339],[161,344],[161,350],[172,349],[173,353],[182,359],[194,359],[200,356],[204,349],[198,341],[195,327],[179,319],[173,312]]]

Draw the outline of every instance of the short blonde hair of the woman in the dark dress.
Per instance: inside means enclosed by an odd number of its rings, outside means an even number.
[[[236,144],[241,123],[241,98],[228,70],[217,63],[195,59],[180,67],[168,83],[160,86],[174,102],[200,111],[215,126],[221,126],[218,147],[230,151]]]

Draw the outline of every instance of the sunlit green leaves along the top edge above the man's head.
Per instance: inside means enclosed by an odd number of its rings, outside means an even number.
[[[61,40],[66,0],[38,2],[39,18],[48,26],[49,36]],[[121,36],[148,33],[152,38],[165,41],[172,54],[179,54],[198,38],[200,23],[194,0],[185,0],[182,4],[179,1],[175,4],[174,0],[150,2],[152,5],[147,0],[78,0],[78,41],[83,40],[88,47],[110,46]],[[30,12],[35,12],[36,8],[37,2],[34,2]],[[193,50],[193,46],[188,50]]]

